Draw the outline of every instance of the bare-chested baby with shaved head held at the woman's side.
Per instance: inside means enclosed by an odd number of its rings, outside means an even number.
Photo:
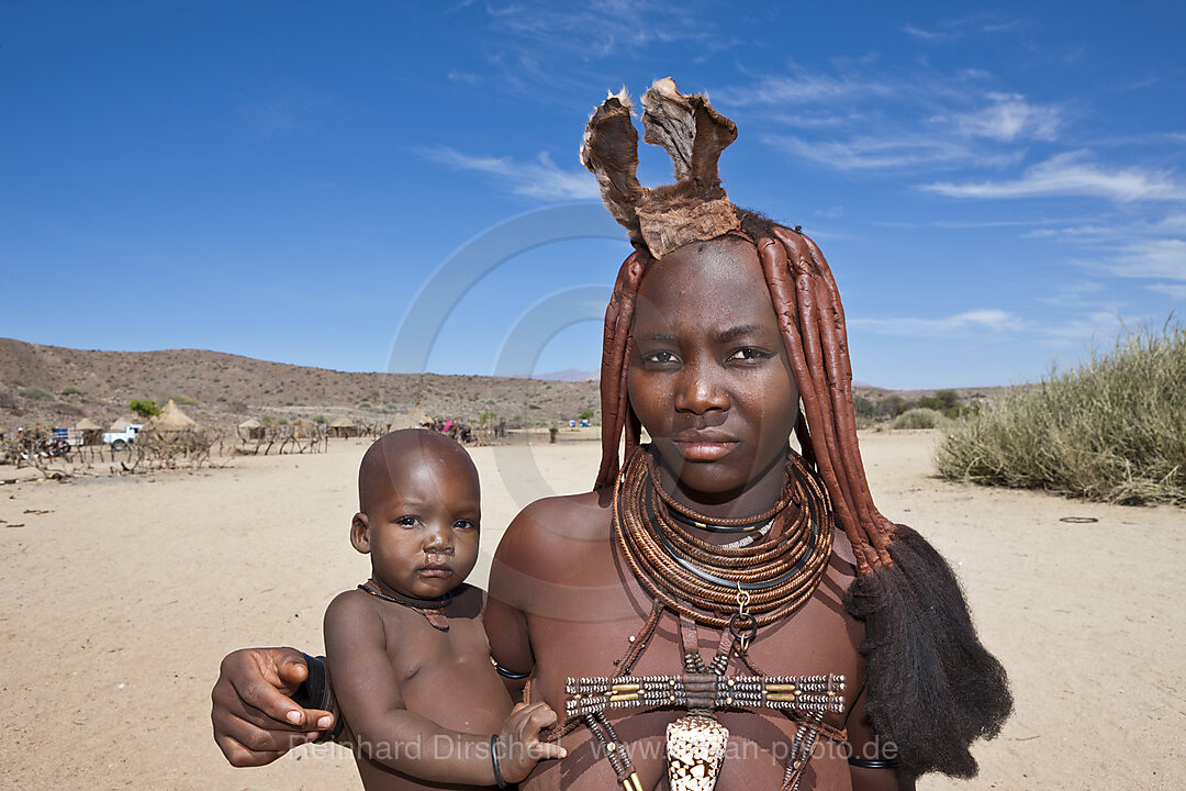
[[[358,470],[355,549],[371,578],[325,611],[325,652],[368,791],[498,785],[563,758],[540,741],[556,721],[516,706],[490,661],[478,560],[478,471],[453,440],[422,429],[377,440]]]

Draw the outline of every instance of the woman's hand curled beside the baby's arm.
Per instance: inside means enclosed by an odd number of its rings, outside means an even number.
[[[231,766],[263,766],[333,727],[333,715],[302,709],[293,693],[308,676],[296,649],[242,649],[222,662],[210,697],[215,741]]]

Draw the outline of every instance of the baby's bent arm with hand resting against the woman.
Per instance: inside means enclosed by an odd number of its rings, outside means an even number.
[[[421,780],[493,785],[490,734],[460,733],[404,708],[387,653],[383,619],[366,594],[350,591],[325,611],[325,652],[333,693],[352,732],[355,749]],[[502,779],[518,783],[537,761],[563,758],[559,745],[540,741],[556,721],[542,703],[517,706],[498,732]]]

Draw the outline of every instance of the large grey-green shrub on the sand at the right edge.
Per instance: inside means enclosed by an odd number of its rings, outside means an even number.
[[[939,446],[939,474],[1114,503],[1186,504],[1186,328],[1108,353],[982,409]]]

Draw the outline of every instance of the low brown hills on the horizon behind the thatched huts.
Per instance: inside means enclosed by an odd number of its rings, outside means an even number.
[[[247,416],[273,419],[383,414],[422,408],[434,417],[474,421],[492,412],[508,423],[550,425],[585,409],[600,420],[595,374],[575,369],[544,378],[351,374],[269,363],[216,351],[85,351],[0,338],[0,429],[68,426],[89,417],[101,426],[132,421],[132,398],[177,398],[191,417],[235,426]],[[555,377],[555,379],[551,379]],[[566,381],[568,379],[568,381]],[[907,401],[935,390],[886,390],[866,384],[859,396]],[[991,402],[1009,388],[959,388],[964,403]]]

